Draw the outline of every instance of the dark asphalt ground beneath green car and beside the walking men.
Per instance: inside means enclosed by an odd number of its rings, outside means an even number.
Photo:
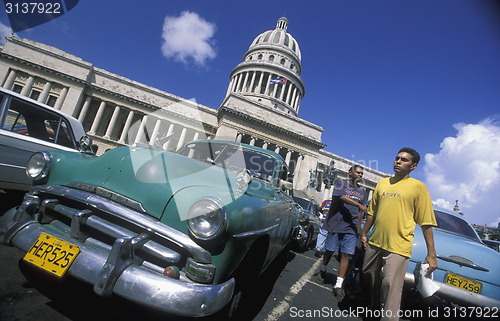
[[[23,254],[12,247],[0,245],[0,320],[172,320],[135,306],[124,300],[105,299],[95,295],[80,282],[37,283],[21,273],[19,261]],[[338,262],[330,262],[327,284],[315,282],[320,259],[312,250],[290,252],[286,260],[277,262],[262,275],[246,298],[245,316],[249,320],[361,320],[349,308],[339,309],[331,294]],[[21,265],[22,267],[23,265]],[[29,273],[33,271],[28,270]],[[28,276],[31,274],[27,274]],[[35,275],[36,276],[36,275]],[[345,304],[344,304],[345,305]],[[342,315],[342,311],[344,314]],[[183,319],[187,320],[187,319]],[[197,319],[200,320],[200,319]]]

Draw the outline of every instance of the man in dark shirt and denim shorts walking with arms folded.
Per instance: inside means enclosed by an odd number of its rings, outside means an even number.
[[[360,186],[363,167],[352,166],[348,171],[349,179],[335,182],[330,211],[323,228],[328,231],[325,241],[323,264],[320,265],[318,283],[324,283],[328,263],[335,251],[340,252],[340,265],[333,294],[340,302],[344,299],[344,277],[349,268],[349,259],[356,250],[360,232],[361,213],[366,211],[363,202],[366,189]]]

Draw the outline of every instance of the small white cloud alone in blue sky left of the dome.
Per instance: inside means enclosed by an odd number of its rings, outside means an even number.
[[[184,11],[179,17],[167,16],[163,23],[162,53],[184,64],[190,61],[204,66],[207,59],[216,56],[213,35],[215,24],[197,13]]]

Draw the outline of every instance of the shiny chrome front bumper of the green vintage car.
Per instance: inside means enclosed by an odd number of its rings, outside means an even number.
[[[50,225],[39,224],[22,211],[12,209],[0,217],[0,242],[24,252],[42,232],[80,247],[80,253],[67,273],[92,284],[94,291],[101,296],[113,293],[163,312],[191,317],[213,314],[231,300],[234,279],[217,285],[203,285],[168,278],[142,265],[120,261],[123,242],[115,242],[108,254],[60,233]],[[118,253],[114,262],[113,253]]]

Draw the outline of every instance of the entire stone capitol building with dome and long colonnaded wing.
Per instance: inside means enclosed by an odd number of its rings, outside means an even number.
[[[60,49],[15,36],[0,47],[0,85],[82,122],[99,152],[170,139],[175,151],[198,138],[238,141],[278,152],[289,164],[296,193],[321,202],[325,178],[346,178],[352,160],[324,149],[323,128],[299,117],[305,86],[302,55],[288,19],[258,35],[229,75],[218,109],[100,69]],[[307,108],[307,107],[305,107]],[[373,190],[387,174],[365,167]],[[325,182],[327,184],[325,184]]]

